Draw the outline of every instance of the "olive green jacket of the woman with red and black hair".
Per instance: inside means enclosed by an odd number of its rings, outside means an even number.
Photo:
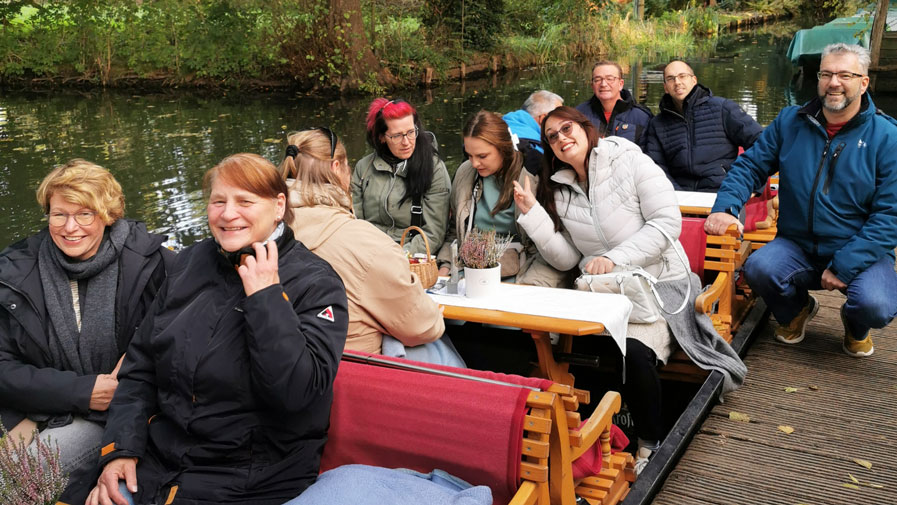
[[[411,226],[411,199],[399,204],[405,196],[404,166],[394,170],[377,153],[371,153],[355,164],[352,172],[352,206],[355,217],[364,219],[399,242],[402,232]],[[435,255],[445,239],[448,224],[451,179],[445,163],[438,156],[433,160],[433,183],[421,200],[423,226],[430,242],[430,254]],[[424,239],[415,235],[405,250],[411,253],[426,252]]]

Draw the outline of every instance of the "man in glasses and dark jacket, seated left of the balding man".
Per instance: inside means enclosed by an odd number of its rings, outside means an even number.
[[[635,103],[623,87],[623,68],[613,61],[599,61],[592,67],[590,82],[594,95],[576,110],[589,118],[602,137],[623,137],[644,148],[651,110]]]

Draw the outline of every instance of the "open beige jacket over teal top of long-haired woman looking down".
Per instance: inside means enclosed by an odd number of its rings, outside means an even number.
[[[523,163],[523,157],[519,157],[519,162]],[[520,176],[517,182],[522,186],[524,178],[530,177],[532,187],[536,187],[536,178],[530,175],[526,169],[520,170]],[[458,167],[455,172],[455,178],[452,181],[452,199],[451,199],[451,215],[448,229],[446,230],[445,243],[439,250],[437,259],[440,265],[451,263],[451,243],[454,239],[458,239],[458,243],[464,240],[467,230],[467,221],[471,218],[471,211],[474,207],[472,201],[473,185],[477,181],[477,171],[473,168],[470,161],[465,161]],[[477,202],[482,198],[482,183],[480,183],[479,191],[477,191]],[[512,203],[512,205],[514,205]],[[489,212],[488,209],[481,209],[482,212]],[[520,216],[520,211],[514,205],[515,219]],[[518,227],[520,234],[521,249],[518,251],[518,264],[520,270],[517,272],[516,283],[528,284],[533,286],[545,286],[549,288],[571,287],[572,277],[565,272],[559,272],[542,259],[535,244],[526,235],[526,231],[522,227]],[[509,250],[505,254],[511,254]]]

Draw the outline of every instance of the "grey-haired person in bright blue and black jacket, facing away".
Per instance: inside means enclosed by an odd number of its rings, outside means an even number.
[[[523,153],[523,166],[533,175],[542,170],[542,118],[561,105],[564,105],[563,98],[540,89],[523,102],[522,109],[502,116],[511,135],[517,136],[514,140],[517,150]]]

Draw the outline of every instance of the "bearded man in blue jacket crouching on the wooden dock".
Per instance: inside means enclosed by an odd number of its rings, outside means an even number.
[[[869,52],[832,44],[822,53],[818,93],[787,107],[732,164],[707,218],[707,233],[741,225],[751,189],[779,171],[778,236],[753,253],[745,276],[779,322],[776,338],[803,340],[819,307],[810,289],[838,289],[843,349],[873,352],[870,328],[897,314],[897,121],[866,93]]]

